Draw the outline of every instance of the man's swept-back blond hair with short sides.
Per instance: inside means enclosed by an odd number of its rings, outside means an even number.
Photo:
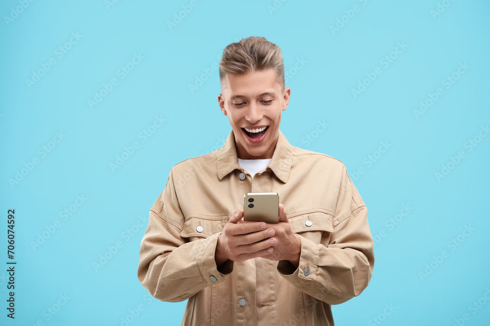
[[[269,68],[275,70],[277,81],[284,88],[284,61],[279,46],[261,36],[250,36],[230,43],[224,48],[221,57],[221,86],[226,74],[248,74]]]

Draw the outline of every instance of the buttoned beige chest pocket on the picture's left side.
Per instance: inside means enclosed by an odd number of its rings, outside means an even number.
[[[208,238],[215,233],[221,232],[229,217],[202,217],[189,216],[186,217],[184,228],[180,233],[182,238],[187,238],[189,241]]]

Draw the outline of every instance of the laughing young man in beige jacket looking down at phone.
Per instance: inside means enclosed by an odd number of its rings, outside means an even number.
[[[218,102],[223,147],[178,163],[149,212],[138,278],[162,301],[189,299],[182,325],[334,325],[374,266],[367,209],[339,160],[279,130],[291,90],[278,46],[229,44]],[[243,221],[243,197],[276,192],[279,223]]]

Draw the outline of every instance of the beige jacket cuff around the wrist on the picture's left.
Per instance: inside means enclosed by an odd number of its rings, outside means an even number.
[[[216,266],[216,244],[218,243],[220,234],[221,232],[203,239],[197,253],[197,268],[201,272],[204,282],[207,283],[207,285],[213,285],[224,281],[224,276],[233,271],[233,261],[224,262],[220,267],[221,272]]]

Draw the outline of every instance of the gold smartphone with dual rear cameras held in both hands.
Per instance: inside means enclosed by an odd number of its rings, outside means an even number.
[[[279,195],[277,193],[247,193],[244,195],[244,220],[252,222],[279,222]]]

